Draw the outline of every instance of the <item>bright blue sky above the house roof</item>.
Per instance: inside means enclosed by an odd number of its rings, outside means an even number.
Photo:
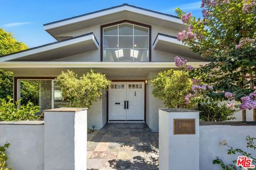
[[[175,14],[175,7],[180,7],[186,12],[200,17],[201,1],[179,0],[179,1],[67,1],[67,0],[12,0],[1,2],[0,28],[12,32],[19,41],[27,44],[30,48],[55,41],[43,29],[43,24],[70,18],[72,16],[85,14],[103,8],[108,8],[123,3],[148,8],[168,14]],[[4,6],[4,7],[3,7]]]

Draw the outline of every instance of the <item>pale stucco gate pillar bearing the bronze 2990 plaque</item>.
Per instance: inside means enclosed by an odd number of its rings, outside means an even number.
[[[199,169],[199,112],[159,109],[159,169]]]

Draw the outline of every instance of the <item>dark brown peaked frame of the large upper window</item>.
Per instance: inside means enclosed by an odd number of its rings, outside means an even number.
[[[108,23],[105,25],[101,25],[100,26],[100,61],[103,62],[103,28],[105,27],[110,27],[113,25],[117,25],[117,24],[121,24],[121,23],[131,23],[134,25],[139,25],[141,27],[146,27],[149,29],[149,58],[148,58],[148,62],[151,62],[151,25],[147,25],[147,24],[143,24],[143,23],[139,23],[139,22],[134,22],[134,21],[130,21],[130,20],[122,20],[122,21],[117,21],[117,22],[113,22],[113,23]]]

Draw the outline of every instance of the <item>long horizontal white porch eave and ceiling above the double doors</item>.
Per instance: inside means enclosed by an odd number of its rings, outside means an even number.
[[[206,62],[189,62],[198,67]],[[14,72],[15,77],[57,77],[61,71],[72,70],[82,75],[90,69],[105,73],[110,79],[143,79],[150,72],[175,68],[174,62],[0,62],[0,68]]]

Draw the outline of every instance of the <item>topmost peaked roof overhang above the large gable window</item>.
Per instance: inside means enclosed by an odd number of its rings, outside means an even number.
[[[186,25],[174,15],[164,14],[145,8],[123,4],[105,10],[100,10],[73,18],[44,24],[44,29],[53,37],[74,30],[91,27],[98,24],[129,19],[136,22],[156,24],[175,30],[186,29]]]

